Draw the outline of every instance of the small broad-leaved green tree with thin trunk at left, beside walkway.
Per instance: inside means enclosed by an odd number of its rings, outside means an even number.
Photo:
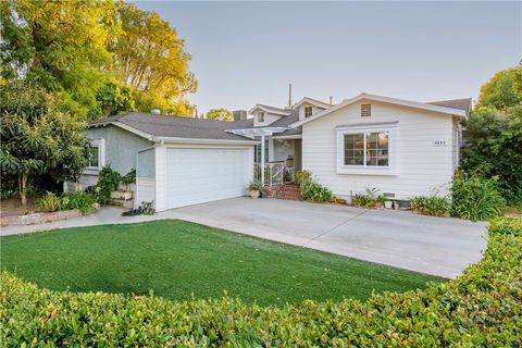
[[[22,204],[32,176],[75,179],[87,165],[85,124],[57,96],[26,83],[1,86],[0,99],[0,165],[2,175],[17,176]]]

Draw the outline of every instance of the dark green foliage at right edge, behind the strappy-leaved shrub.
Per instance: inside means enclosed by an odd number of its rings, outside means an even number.
[[[502,197],[522,202],[522,116],[482,110],[468,121],[464,137],[462,169],[497,176]]]

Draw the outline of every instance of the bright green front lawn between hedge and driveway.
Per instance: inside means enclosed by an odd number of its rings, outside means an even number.
[[[2,237],[1,268],[50,289],[247,302],[368,298],[443,278],[266,241],[184,221]]]

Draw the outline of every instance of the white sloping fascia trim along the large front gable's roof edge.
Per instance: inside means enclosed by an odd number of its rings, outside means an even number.
[[[389,97],[383,97],[383,96],[376,96],[376,95],[370,95],[362,92],[359,96],[356,96],[351,99],[345,99],[343,100],[341,103],[332,107],[330,109],[323,110],[321,112],[318,112],[316,114],[301,120],[299,122],[296,122],[291,124],[291,127],[299,127],[303,125],[304,123],[312,122],[316,119],[320,119],[324,115],[327,115],[334,111],[337,111],[339,109],[343,109],[349,104],[352,104],[355,102],[361,101],[361,100],[373,100],[373,101],[381,101],[385,103],[391,103],[396,105],[402,105],[402,107],[408,107],[408,108],[414,108],[414,109],[420,109],[420,110],[426,110],[426,111],[433,111],[433,112],[439,112],[439,113],[445,113],[449,115],[456,115],[460,117],[468,117],[468,113],[465,110],[461,109],[453,109],[453,108],[448,108],[448,107],[443,107],[443,105],[437,105],[437,104],[431,104],[431,103],[423,103],[423,102],[418,102],[418,101],[411,101],[411,100],[405,100],[405,99],[397,99],[397,98],[389,98]]]

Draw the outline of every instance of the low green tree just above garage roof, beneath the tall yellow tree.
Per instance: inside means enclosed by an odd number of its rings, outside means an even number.
[[[135,110],[133,90],[128,86],[109,82],[96,94],[96,108],[89,111],[89,119],[108,117]]]

